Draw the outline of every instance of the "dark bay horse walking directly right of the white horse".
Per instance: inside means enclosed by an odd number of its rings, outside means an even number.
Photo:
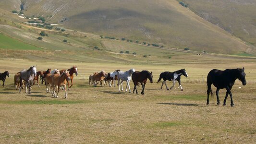
[[[152,74],[152,72],[150,73],[148,71],[141,71],[141,72],[136,71],[136,72],[133,73],[132,80],[134,82],[134,90],[136,90],[136,94],[138,94],[136,86],[138,85],[138,83],[140,83],[142,85],[141,94],[144,95],[144,89],[145,89],[147,79],[149,79],[151,84],[153,83],[153,74]]]

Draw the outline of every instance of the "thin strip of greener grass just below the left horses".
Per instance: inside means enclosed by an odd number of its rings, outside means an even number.
[[[18,105],[30,105],[30,104],[83,104],[88,103],[85,100],[20,100],[20,101],[0,101],[1,104],[18,104]]]

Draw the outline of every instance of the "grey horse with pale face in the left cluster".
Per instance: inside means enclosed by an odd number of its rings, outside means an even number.
[[[37,68],[36,66],[30,67],[28,70],[23,70],[20,72],[20,93],[21,93],[21,88],[23,87],[23,81],[26,82],[26,93],[27,93],[27,86],[29,87],[28,89],[28,94],[31,94],[31,84],[34,81],[34,77],[37,76]]]

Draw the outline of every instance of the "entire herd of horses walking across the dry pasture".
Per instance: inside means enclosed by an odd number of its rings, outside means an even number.
[[[28,70],[22,70],[21,72],[18,72],[14,75],[14,85],[16,87],[16,90],[19,89],[19,92],[22,92],[22,89],[25,87],[25,92],[28,94],[31,94],[31,85],[34,85],[37,82],[37,85],[39,87],[39,76],[41,84],[45,83],[47,93],[50,93],[50,89],[52,90],[52,96],[58,97],[60,89],[63,89],[65,91],[65,98],[67,98],[67,88],[68,90],[73,85],[73,76],[74,74],[77,76],[78,71],[77,67],[73,66],[68,70],[58,70],[55,69],[51,71],[51,69],[48,69],[47,71],[37,71],[36,66],[31,66]],[[161,89],[163,87],[163,84],[165,84],[166,89],[170,90],[175,86],[176,81],[179,83],[179,87],[183,91],[182,85],[181,85],[181,76],[184,75],[185,77],[188,77],[188,74],[185,69],[181,69],[175,72],[162,72],[159,75],[158,82],[163,79]],[[243,69],[226,69],[224,71],[220,71],[217,69],[211,70],[207,75],[207,105],[209,104],[209,94],[213,95],[211,85],[213,84],[217,90],[216,90],[216,96],[217,96],[217,105],[219,105],[219,89],[226,89],[226,96],[223,102],[223,106],[226,105],[226,100],[228,95],[230,95],[231,98],[231,106],[233,107],[233,100],[232,100],[232,93],[231,89],[234,85],[234,82],[236,79],[239,79],[243,85],[246,85],[245,80],[245,72]],[[2,86],[4,86],[4,82],[6,80],[6,77],[9,77],[9,71],[0,73],[0,80],[3,81]],[[118,90],[120,92],[120,85],[121,90],[123,91],[122,83],[126,82],[126,88],[125,91],[127,92],[127,87],[129,89],[129,92],[131,93],[130,89],[130,81],[133,80],[134,83],[134,91],[136,91],[136,94],[138,94],[137,91],[137,85],[142,85],[142,92],[141,94],[144,95],[145,85],[147,82],[147,79],[149,79],[150,83],[153,83],[153,72],[148,71],[135,71],[135,69],[130,69],[128,71],[121,71],[116,70],[114,72],[106,73],[105,71],[101,72],[94,72],[89,76],[89,85],[97,86],[97,84],[109,85],[109,86],[116,86],[115,81],[118,81]],[[172,81],[173,85],[168,88],[166,81]],[[71,81],[71,85],[69,83]],[[157,83],[158,83],[157,82]],[[28,91],[27,91],[28,88]],[[57,93],[57,94],[56,94]]]

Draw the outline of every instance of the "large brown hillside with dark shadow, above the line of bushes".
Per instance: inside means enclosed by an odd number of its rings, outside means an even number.
[[[60,22],[64,27],[97,35],[223,54],[243,53],[248,48],[243,41],[207,22],[176,0],[21,2],[24,3],[23,12],[26,16],[43,16],[47,23]],[[12,5],[15,5],[12,9],[19,10],[18,4],[12,2]]]

